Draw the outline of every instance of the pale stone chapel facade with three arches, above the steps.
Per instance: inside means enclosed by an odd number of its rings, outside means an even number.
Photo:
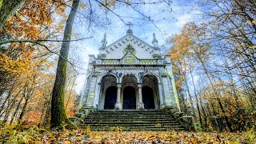
[[[127,30],[124,37],[106,46],[106,34],[97,57],[89,55],[83,108],[180,110],[170,56],[162,56],[158,41],[152,45]]]

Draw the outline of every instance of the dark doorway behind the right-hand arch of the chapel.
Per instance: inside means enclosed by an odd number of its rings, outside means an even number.
[[[145,109],[154,109],[154,94],[149,86],[142,87],[142,101]]]

